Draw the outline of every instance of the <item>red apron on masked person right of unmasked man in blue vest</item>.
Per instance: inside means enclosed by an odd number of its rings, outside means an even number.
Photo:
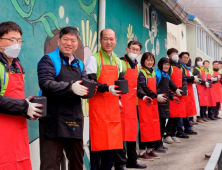
[[[205,80],[205,71],[201,70],[201,79]],[[208,95],[207,95],[207,88],[205,85],[197,84],[197,92],[199,97],[200,106],[207,106],[208,105]]]

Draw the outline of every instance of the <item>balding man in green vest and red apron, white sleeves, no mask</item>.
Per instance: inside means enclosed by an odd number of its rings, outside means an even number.
[[[98,84],[96,95],[89,99],[91,170],[111,170],[116,150],[123,149],[120,91],[114,81],[124,76],[121,61],[113,52],[116,42],[114,30],[102,30],[100,51],[86,61],[89,79]]]

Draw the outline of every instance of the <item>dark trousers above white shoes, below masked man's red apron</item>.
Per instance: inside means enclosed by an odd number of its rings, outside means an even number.
[[[171,136],[171,137],[175,136],[179,119],[180,119],[179,117],[169,118],[165,130],[166,136]]]

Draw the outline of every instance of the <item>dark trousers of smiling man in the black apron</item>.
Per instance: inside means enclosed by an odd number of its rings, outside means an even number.
[[[43,137],[43,125],[39,125],[40,132],[40,170],[60,170],[63,151],[69,160],[69,170],[83,169],[83,140],[73,138],[53,138]]]

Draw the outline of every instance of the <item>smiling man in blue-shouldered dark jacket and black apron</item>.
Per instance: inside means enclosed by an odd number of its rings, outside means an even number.
[[[75,27],[63,28],[57,49],[38,64],[39,86],[47,97],[47,116],[39,121],[40,170],[60,170],[63,150],[70,170],[83,169],[81,96],[88,92],[80,81],[87,78],[84,64],[73,55],[79,37]]]

